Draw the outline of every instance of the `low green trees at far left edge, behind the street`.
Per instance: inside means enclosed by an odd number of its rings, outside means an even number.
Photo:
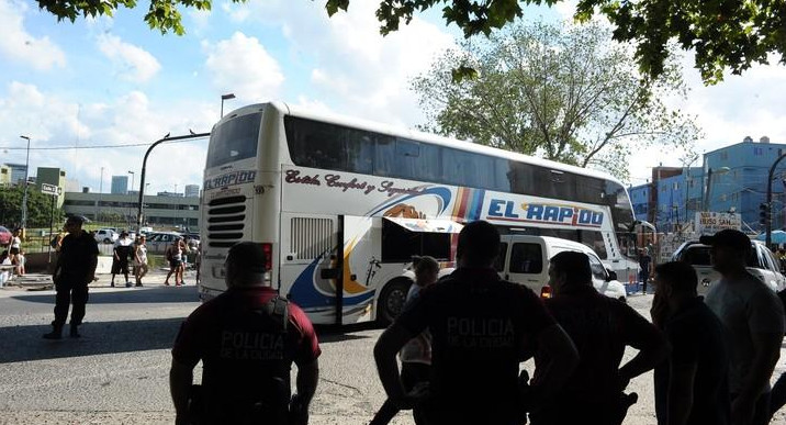
[[[24,187],[0,188],[0,224],[15,227],[22,222],[22,198]],[[27,190],[27,227],[48,227],[52,213],[52,197],[41,193],[31,184]],[[55,224],[65,217],[61,209],[55,208]]]

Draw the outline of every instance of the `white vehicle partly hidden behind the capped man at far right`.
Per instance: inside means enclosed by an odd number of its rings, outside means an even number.
[[[710,246],[698,241],[688,241],[682,244],[672,256],[672,261],[685,261],[696,270],[699,295],[707,293],[709,287],[720,279],[720,273],[712,268],[710,251]],[[751,241],[748,271],[757,277],[773,291],[777,292],[786,288],[786,277],[781,273],[777,258],[760,241]]]

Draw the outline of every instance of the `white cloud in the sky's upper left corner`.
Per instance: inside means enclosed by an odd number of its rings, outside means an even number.
[[[0,0],[0,55],[7,60],[31,66],[36,70],[65,67],[66,55],[49,37],[35,37],[24,29],[25,3]]]

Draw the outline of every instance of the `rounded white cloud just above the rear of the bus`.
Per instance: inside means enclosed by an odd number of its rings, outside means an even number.
[[[256,37],[236,32],[216,44],[204,43],[205,67],[221,92],[259,102],[279,96],[284,75],[279,63]]]

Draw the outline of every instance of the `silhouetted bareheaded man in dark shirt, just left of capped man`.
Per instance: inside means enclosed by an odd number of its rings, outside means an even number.
[[[723,325],[697,295],[697,284],[687,262],[655,267],[652,322],[672,347],[654,373],[659,425],[731,424]]]

